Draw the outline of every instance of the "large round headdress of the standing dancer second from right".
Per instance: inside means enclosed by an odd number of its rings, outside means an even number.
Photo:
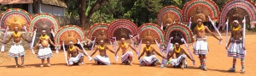
[[[218,5],[212,0],[191,0],[183,7],[183,21],[189,23],[190,17],[195,23],[197,19],[202,19],[203,22],[208,21],[207,15],[212,20],[218,19],[219,9]]]

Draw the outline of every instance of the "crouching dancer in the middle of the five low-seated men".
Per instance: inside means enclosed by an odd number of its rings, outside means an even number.
[[[118,47],[117,52],[115,54],[117,54],[119,52],[120,48],[121,48],[122,52],[123,52],[123,54],[121,56],[122,63],[132,65],[133,53],[128,50],[129,47],[131,47],[131,49],[134,52],[136,52],[136,50],[129,43],[125,42],[125,38],[121,38],[121,44],[119,44],[119,47]]]

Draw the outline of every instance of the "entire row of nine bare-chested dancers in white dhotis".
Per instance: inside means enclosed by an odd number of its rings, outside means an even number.
[[[214,35],[206,25],[202,24],[201,19],[197,20],[197,25],[194,29],[194,34],[195,34],[195,45],[194,45],[194,54],[198,55],[200,58],[200,67],[201,69],[207,71],[206,67],[206,60],[207,60],[207,53],[209,52],[208,46],[207,46],[207,37],[206,37],[206,32],[210,33],[213,37],[218,39],[218,41],[221,41],[221,38],[218,38],[216,35]],[[242,32],[244,32],[241,28],[241,25],[237,20],[233,21],[233,29],[231,30],[231,36],[230,36],[230,41],[228,43],[228,46],[226,46],[226,49],[228,50],[228,57],[234,57],[233,58],[233,65],[232,68],[229,69],[230,72],[235,72],[236,71],[236,57],[241,58],[241,73],[245,73],[245,68],[244,68],[244,56],[245,56],[245,46],[242,46],[242,41],[241,39],[243,38]],[[3,42],[3,44],[8,43],[11,39],[14,39],[14,45],[11,46],[9,50],[9,56],[15,57],[15,62],[16,62],[16,67],[24,67],[24,48],[23,46],[20,45],[21,38],[23,38],[25,41],[26,38],[20,32],[18,32],[18,28],[15,27],[15,32],[11,35],[8,41]],[[28,41],[31,42],[31,41]],[[49,43],[53,46],[55,44],[49,39],[49,36],[46,35],[46,31],[42,31],[42,35],[38,40],[38,43],[36,46],[33,48],[36,48],[39,46],[39,52],[38,52],[38,58],[42,60],[42,64],[40,65],[41,67],[44,67],[44,59],[47,59],[47,65],[50,66],[49,63],[49,57],[53,56],[53,53],[51,52],[49,48]],[[113,52],[108,48],[108,46],[103,45],[103,41],[101,41],[100,46],[96,47],[96,51],[92,53],[91,56],[93,56],[97,51],[100,52],[100,55],[94,57],[95,61],[97,64],[109,64],[109,58],[107,56],[106,50],[109,50],[110,52]],[[173,66],[180,66],[181,68],[187,68],[186,65],[186,57],[189,57],[189,55],[182,49],[180,48],[178,43],[175,43],[175,48],[172,52],[170,52],[169,57],[164,57],[160,55],[159,52],[154,50],[154,47],[150,46],[149,41],[147,41],[147,46],[143,48],[143,53],[138,57],[140,60],[140,63],[142,65],[151,65],[151,64],[156,64],[156,62],[160,62],[158,58],[154,56],[154,52],[159,55],[160,57],[163,57],[165,59],[168,59],[172,57],[173,54],[176,54],[177,59],[171,59],[168,63],[172,64]],[[73,65],[74,63],[80,63],[83,64],[83,56],[84,54],[80,54],[82,52],[79,50],[79,47],[73,46],[73,42],[70,41],[70,46],[67,49],[67,55],[68,55],[68,64]],[[121,39],[121,44],[119,44],[117,52],[119,52],[119,49],[122,50],[122,56],[121,56],[121,61],[124,64],[130,64],[132,65],[133,61],[133,53],[129,50],[129,47],[135,51],[135,49],[129,44],[125,42],[125,39]],[[117,55],[117,52],[113,52],[115,56]],[[83,52],[82,52],[83,53]],[[146,56],[140,59],[140,57],[143,56],[143,54],[146,53]],[[70,56],[71,55],[71,56]],[[86,55],[85,55],[86,56]],[[18,64],[18,58],[21,57],[21,65]],[[88,56],[87,56],[88,57]],[[189,59],[193,62],[195,62],[194,59],[189,57]]]

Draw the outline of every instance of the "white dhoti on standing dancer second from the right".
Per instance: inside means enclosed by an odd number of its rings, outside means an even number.
[[[208,43],[207,38],[197,38],[194,45],[195,55],[207,55],[208,53]]]

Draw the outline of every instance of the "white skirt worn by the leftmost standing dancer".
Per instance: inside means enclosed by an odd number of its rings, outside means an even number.
[[[14,42],[14,45],[10,47],[8,54],[10,57],[21,57],[25,55],[24,48],[20,43],[21,41],[19,43]]]

